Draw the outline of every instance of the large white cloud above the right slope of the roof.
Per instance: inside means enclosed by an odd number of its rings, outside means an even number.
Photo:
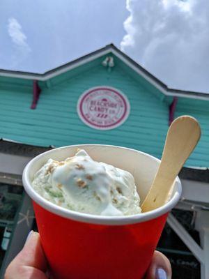
[[[169,87],[209,92],[209,1],[127,0],[121,50]]]

